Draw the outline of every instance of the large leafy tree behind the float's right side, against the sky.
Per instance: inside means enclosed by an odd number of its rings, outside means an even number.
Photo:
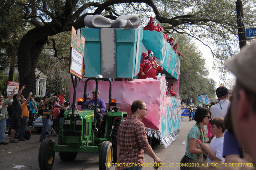
[[[214,100],[215,81],[207,78],[208,69],[205,67],[205,59],[195,45],[195,41],[185,34],[172,34],[173,39],[178,41],[177,51],[180,56],[180,88],[179,94],[182,101],[190,98],[197,104],[197,96],[208,95]],[[188,101],[187,101],[188,102]]]

